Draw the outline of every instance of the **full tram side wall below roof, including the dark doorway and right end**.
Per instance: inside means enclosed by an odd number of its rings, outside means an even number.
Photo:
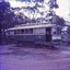
[[[32,33],[22,33],[16,30],[8,31],[7,40],[12,43],[35,43],[35,44],[47,44],[60,40],[60,35],[57,34],[55,27],[37,27],[33,28]]]

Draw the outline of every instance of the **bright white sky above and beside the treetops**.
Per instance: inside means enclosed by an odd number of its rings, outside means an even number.
[[[15,1],[15,0],[7,0],[10,2],[11,7],[15,8],[15,7],[25,7],[27,5],[25,2],[20,2],[20,1]],[[48,0],[45,0],[45,2],[48,2]],[[56,9],[56,14],[58,14],[59,16],[62,16],[66,21],[70,21],[70,0],[57,0],[57,3],[59,5],[59,9]],[[34,3],[32,2],[32,4],[30,4],[31,7],[34,5]],[[47,9],[47,5],[45,5]]]

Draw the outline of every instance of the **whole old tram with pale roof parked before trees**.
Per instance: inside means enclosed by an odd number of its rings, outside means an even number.
[[[8,28],[5,35],[11,43],[56,45],[61,40],[61,26],[47,23],[22,24]]]

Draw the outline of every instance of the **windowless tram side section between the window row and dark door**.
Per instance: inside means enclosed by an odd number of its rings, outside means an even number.
[[[45,42],[45,28],[34,28],[35,44]]]

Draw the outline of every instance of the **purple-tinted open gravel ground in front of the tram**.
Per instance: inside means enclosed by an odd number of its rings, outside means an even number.
[[[0,45],[0,70],[70,70],[69,46],[33,47]]]

